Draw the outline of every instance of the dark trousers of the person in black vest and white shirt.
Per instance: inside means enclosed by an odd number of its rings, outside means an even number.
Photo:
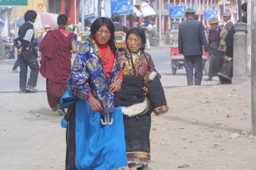
[[[31,69],[29,80],[27,84],[28,66]],[[28,86],[36,87],[39,73],[39,65],[36,60],[36,53],[29,48],[22,50],[20,54],[20,89],[25,90],[26,84]]]

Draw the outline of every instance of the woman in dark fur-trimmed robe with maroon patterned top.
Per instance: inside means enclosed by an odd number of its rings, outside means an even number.
[[[145,52],[146,37],[141,27],[129,29],[127,49],[120,54],[123,83],[118,92],[124,114],[125,144],[129,168],[148,170],[150,162],[151,113],[168,111],[160,74],[149,53]]]

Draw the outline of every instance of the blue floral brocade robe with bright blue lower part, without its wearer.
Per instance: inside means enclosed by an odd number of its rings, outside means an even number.
[[[114,107],[115,95],[109,91],[109,85],[118,78],[120,69],[116,53],[109,80],[93,39],[88,36],[83,44],[79,44],[68,78],[68,91],[61,99],[61,106],[73,104],[73,111],[69,111],[61,121],[63,127],[68,127],[67,169],[128,169],[122,110]],[[114,108],[114,112],[109,112],[107,117],[102,112],[93,112],[87,101],[90,92],[99,99],[102,108]],[[105,122],[113,119],[113,122],[103,125],[100,119]]]

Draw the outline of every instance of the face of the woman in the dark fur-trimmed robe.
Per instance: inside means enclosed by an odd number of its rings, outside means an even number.
[[[133,53],[140,52],[140,48],[142,45],[140,36],[138,36],[134,33],[129,34],[129,36],[127,38],[127,45],[131,52],[133,52]]]

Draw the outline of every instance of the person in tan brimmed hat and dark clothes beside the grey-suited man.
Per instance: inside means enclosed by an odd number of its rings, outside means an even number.
[[[209,48],[210,48],[210,67],[208,78],[205,81],[212,81],[213,76],[217,76],[218,71],[223,66],[224,52],[218,50],[220,46],[221,28],[218,26],[218,19],[212,18],[210,21],[211,30],[209,31]]]

